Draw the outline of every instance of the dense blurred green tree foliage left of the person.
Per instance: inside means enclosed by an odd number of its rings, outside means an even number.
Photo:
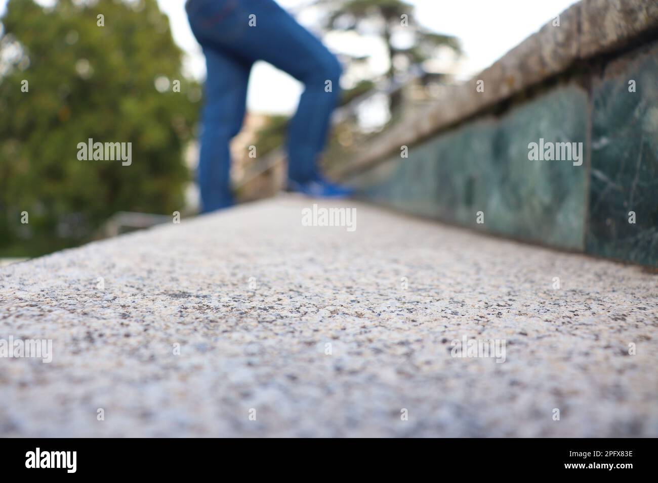
[[[183,77],[156,1],[59,0],[43,9],[10,0],[1,20],[0,254],[84,241],[120,210],[180,210],[199,86]],[[158,91],[161,76],[179,80],[180,92]],[[89,138],[132,143],[132,164],[78,160]],[[29,225],[20,223],[24,211]]]

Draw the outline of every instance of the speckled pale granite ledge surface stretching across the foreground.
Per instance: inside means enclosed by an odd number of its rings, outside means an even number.
[[[0,436],[658,436],[655,273],[353,202],[351,233],[302,226],[311,205],[0,268],[0,339],[53,339],[0,358]],[[463,336],[505,362],[451,357]]]

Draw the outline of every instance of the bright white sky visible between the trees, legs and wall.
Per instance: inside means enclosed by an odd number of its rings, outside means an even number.
[[[37,0],[47,5],[54,0]],[[170,20],[174,41],[186,52],[185,71],[203,80],[205,61],[185,14],[185,0],[157,0]],[[537,32],[545,23],[576,3],[576,0],[407,0],[416,7],[416,18],[426,28],[461,40],[464,55],[455,66],[457,78],[466,79],[483,70]],[[7,0],[0,0],[0,14]],[[309,0],[278,0],[313,30],[313,12],[299,12]],[[317,32],[316,32],[317,33]],[[372,55],[374,68],[385,64],[382,45],[374,39],[356,42],[350,34],[329,35],[332,51]],[[355,51],[356,50],[356,51]],[[276,68],[258,62],[251,72],[247,106],[255,112],[290,114],[297,106],[302,86]]]

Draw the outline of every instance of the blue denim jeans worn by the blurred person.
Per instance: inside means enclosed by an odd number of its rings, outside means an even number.
[[[288,177],[299,183],[316,179],[340,93],[342,68],[336,56],[273,0],[188,0],[186,10],[208,72],[198,171],[202,211],[233,202],[229,141],[242,126],[247,81],[256,60],[305,85],[288,127]],[[331,81],[330,92],[326,81]]]

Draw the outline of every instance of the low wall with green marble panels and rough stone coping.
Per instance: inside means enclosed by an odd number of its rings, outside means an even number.
[[[657,26],[658,2],[584,0],[338,175],[411,214],[657,266]],[[576,150],[531,160],[542,142]]]

